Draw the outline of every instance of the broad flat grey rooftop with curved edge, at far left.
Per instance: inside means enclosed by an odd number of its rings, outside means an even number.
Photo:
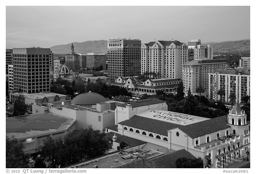
[[[16,139],[28,139],[68,129],[75,120],[50,113],[6,118],[6,135]]]

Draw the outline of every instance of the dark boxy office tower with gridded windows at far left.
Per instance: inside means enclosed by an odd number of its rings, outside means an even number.
[[[13,48],[13,90],[50,92],[52,59],[49,48]]]

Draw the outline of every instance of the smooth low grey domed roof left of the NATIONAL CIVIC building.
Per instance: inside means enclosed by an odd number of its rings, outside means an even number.
[[[97,103],[102,103],[108,101],[105,97],[98,93],[88,92],[81,93],[71,101],[72,104],[78,105],[93,105]]]

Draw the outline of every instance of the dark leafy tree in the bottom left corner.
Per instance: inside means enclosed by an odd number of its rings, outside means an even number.
[[[24,146],[20,141],[6,136],[6,168],[28,168],[28,161],[23,149]]]

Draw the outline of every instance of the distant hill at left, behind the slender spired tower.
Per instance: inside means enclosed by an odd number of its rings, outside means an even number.
[[[52,46],[51,50],[53,54],[69,54],[71,53],[71,44],[66,45],[56,45]],[[85,41],[82,43],[73,43],[76,53],[107,53],[108,52],[108,41],[106,40],[94,40],[94,41]]]

